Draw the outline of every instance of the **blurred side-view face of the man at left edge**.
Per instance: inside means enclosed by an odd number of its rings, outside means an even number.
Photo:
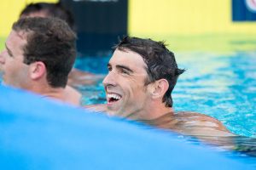
[[[23,47],[26,36],[21,32],[11,31],[5,49],[0,54],[0,72],[3,82],[17,88],[25,88],[28,80],[29,66],[23,63]]]

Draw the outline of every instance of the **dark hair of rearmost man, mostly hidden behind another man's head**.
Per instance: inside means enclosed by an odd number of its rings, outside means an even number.
[[[68,26],[75,30],[73,14],[66,8],[63,8],[61,3],[29,3],[21,11],[20,18],[38,12],[44,12],[48,17],[65,20]]]

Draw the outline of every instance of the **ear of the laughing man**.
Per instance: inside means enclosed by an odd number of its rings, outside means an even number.
[[[166,91],[169,88],[169,83],[166,79],[160,79],[154,82],[153,87],[152,87],[152,97],[154,99],[162,99],[163,96],[166,94]]]

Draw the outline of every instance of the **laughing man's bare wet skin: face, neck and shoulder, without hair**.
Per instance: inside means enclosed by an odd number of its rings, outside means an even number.
[[[148,77],[147,65],[143,58],[126,49],[115,50],[108,63],[108,75],[103,84],[107,105],[90,106],[90,110],[105,111],[110,116],[123,116],[154,127],[169,129],[177,133],[195,136],[234,136],[224,125],[211,116],[183,111],[174,114],[171,107],[152,101],[150,85],[145,85]],[[160,110],[155,110],[155,108]],[[94,108],[94,109],[93,109]],[[150,117],[149,113],[158,116]]]

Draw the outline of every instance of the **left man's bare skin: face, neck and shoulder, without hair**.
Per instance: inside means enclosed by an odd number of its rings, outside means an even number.
[[[22,88],[42,94],[51,99],[59,99],[69,104],[80,105],[81,95],[73,88],[51,88],[46,76],[33,78],[33,70],[37,62],[30,65],[24,63],[23,48],[26,45],[26,33],[11,31],[5,49],[0,54],[0,72],[3,83],[15,88]],[[44,72],[43,75],[46,75]]]

